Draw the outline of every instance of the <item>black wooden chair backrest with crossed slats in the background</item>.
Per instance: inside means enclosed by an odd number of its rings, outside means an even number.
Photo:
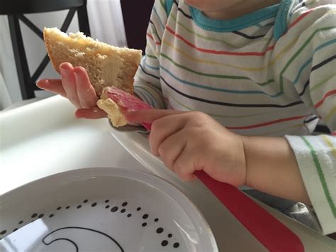
[[[77,11],[79,31],[90,35],[89,18],[86,11],[86,0],[0,0],[0,15],[7,15],[9,21],[9,31],[11,33],[11,42],[16,62],[16,71],[18,73],[18,82],[20,84],[22,99],[35,97],[34,91],[38,89],[35,85],[43,70],[49,62],[49,57],[45,55],[42,62],[30,76],[28,60],[23,45],[20,22],[30,28],[43,40],[43,32],[35,26],[24,14],[26,13],[45,13],[49,11],[61,11],[69,9],[65,21],[60,28],[66,32]]]

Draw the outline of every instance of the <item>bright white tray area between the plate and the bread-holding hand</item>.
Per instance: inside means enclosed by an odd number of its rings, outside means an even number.
[[[105,123],[75,119],[72,105],[59,96],[0,112],[0,195],[66,170],[139,167]]]

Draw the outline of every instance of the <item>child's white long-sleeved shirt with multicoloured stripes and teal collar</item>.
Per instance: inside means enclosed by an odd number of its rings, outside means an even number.
[[[332,4],[334,2],[334,4]],[[336,231],[336,4],[282,0],[213,20],[155,1],[135,93],[157,108],[203,111],[245,136],[285,136],[324,234]]]

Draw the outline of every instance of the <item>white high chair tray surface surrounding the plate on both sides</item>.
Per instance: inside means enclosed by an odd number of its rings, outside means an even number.
[[[117,167],[148,172],[108,133],[106,119],[79,120],[73,113],[72,106],[59,96],[0,113],[0,195],[40,177],[77,168]],[[138,155],[146,157],[143,146],[138,147]],[[153,161],[148,157],[147,162]],[[199,182],[184,185],[161,166],[152,172],[172,182],[201,209],[219,251],[266,251]],[[335,252],[335,241],[262,206],[298,234],[306,251]]]

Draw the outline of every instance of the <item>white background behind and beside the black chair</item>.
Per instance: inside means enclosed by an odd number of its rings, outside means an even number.
[[[127,45],[120,0],[88,0],[87,8],[92,38],[97,38],[111,45]],[[29,18],[35,26],[43,30],[44,26],[60,28],[66,15],[67,11],[57,11],[27,14],[26,17]],[[78,29],[76,14],[68,32],[77,32]],[[33,31],[30,31],[22,22],[21,32],[26,48],[28,67],[30,74],[33,74],[43,60],[43,57],[45,57],[45,46],[43,40],[35,35]],[[40,79],[58,77],[49,63],[40,76]],[[43,97],[46,94],[39,93],[37,95]],[[0,109],[1,106],[8,106],[10,102],[16,103],[21,100],[7,16],[0,16]]]

